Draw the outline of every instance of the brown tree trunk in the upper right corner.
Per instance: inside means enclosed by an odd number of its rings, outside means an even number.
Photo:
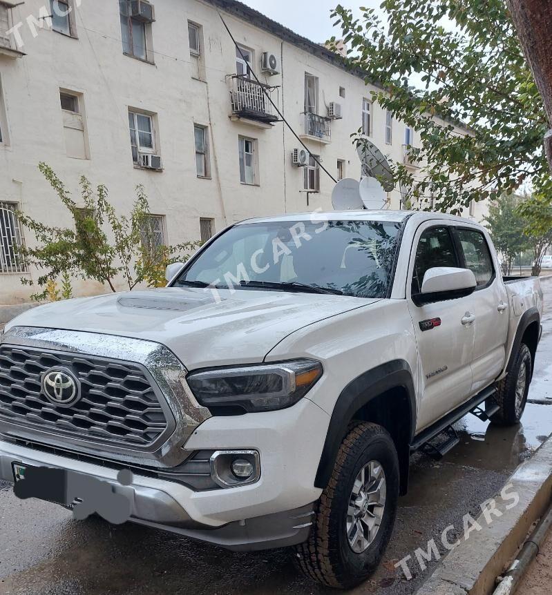
[[[550,0],[508,0],[508,6],[552,123],[552,3]],[[544,136],[544,150],[552,170],[552,130]]]

